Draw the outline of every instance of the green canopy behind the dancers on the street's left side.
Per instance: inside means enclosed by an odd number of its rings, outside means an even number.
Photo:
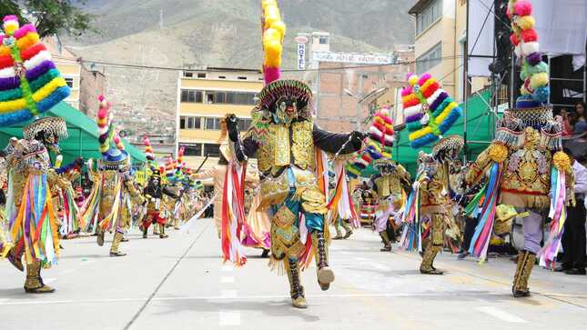
[[[66,119],[68,137],[59,141],[61,153],[64,157],[64,164],[68,164],[78,156],[88,158],[100,158],[97,125],[94,120],[79,112],[76,108],[65,102],[60,102],[49,110],[46,115],[59,116]],[[16,136],[23,137],[23,127],[28,123],[21,123],[8,127],[0,127],[0,147],[8,144],[8,140]],[[135,167],[140,167],[145,162],[145,155],[134,145],[123,139],[123,144],[128,155],[131,156]]]

